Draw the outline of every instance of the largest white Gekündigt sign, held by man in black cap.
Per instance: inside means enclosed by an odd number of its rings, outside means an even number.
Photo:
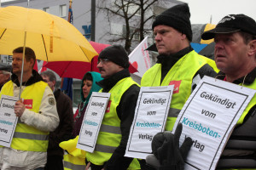
[[[193,140],[186,170],[215,169],[230,133],[254,94],[251,88],[203,77],[175,123],[175,128],[177,123],[183,124],[180,144],[185,137]]]

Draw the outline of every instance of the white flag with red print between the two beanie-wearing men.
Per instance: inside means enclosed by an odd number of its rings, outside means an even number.
[[[143,74],[150,68],[150,59],[148,50],[148,37],[145,37],[140,44],[129,54],[129,61],[138,72],[135,72],[139,77],[143,77]]]

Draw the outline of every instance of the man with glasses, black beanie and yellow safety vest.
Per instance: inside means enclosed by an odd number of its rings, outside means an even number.
[[[91,170],[139,169],[136,159],[124,156],[140,90],[130,77],[125,48],[113,45],[103,49],[98,57],[97,67],[104,78],[98,82],[102,87],[100,92],[111,95],[96,148],[93,153],[86,152],[88,167]]]

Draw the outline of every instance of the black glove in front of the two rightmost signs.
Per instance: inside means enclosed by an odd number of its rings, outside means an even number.
[[[182,129],[183,125],[179,123],[174,134],[157,133],[154,136],[152,150],[154,156],[160,161],[160,170],[183,170],[184,161],[193,142],[191,138],[186,138],[182,146],[179,147]]]

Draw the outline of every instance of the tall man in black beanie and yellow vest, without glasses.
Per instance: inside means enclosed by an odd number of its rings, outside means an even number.
[[[214,77],[218,70],[190,46],[192,30],[187,3],[178,4],[156,16],[152,29],[159,56],[142,78],[142,87],[174,85],[166,130],[172,131],[177,116],[196,84],[205,75]],[[145,161],[141,162],[143,167]]]

